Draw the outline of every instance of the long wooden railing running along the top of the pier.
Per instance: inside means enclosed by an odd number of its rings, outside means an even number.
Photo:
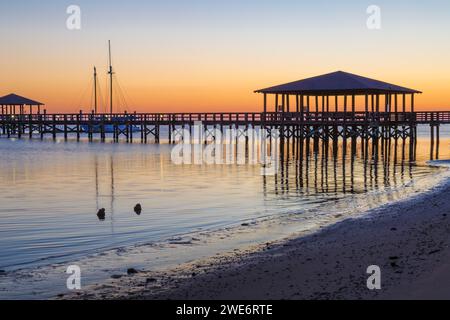
[[[395,125],[396,123],[418,124],[446,124],[450,123],[450,111],[423,111],[423,112],[287,112],[287,113],[120,113],[120,114],[16,114],[0,115],[1,122],[31,122],[31,123],[158,123],[183,124],[204,122],[211,124],[355,124],[378,123]]]

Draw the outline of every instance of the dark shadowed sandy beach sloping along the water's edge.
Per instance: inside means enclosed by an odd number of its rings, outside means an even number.
[[[450,299],[450,183],[299,239],[167,272],[138,272],[66,299]],[[381,267],[382,290],[366,269]]]

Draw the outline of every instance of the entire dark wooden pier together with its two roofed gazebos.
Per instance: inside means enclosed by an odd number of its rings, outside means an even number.
[[[0,98],[0,135],[22,138],[46,135],[65,139],[87,135],[90,141],[107,137],[118,142],[140,140],[159,143],[166,127],[170,143],[178,141],[182,129],[201,126],[205,137],[211,129],[236,128],[245,132],[261,128],[277,130],[282,139],[378,141],[409,139],[414,145],[417,126],[427,124],[431,139],[439,145],[440,125],[450,124],[450,111],[416,111],[415,95],[420,91],[387,82],[334,72],[255,91],[263,94],[263,112],[226,113],[108,113],[49,114],[42,103],[16,95]],[[273,111],[269,98],[273,97]],[[24,104],[29,105],[26,114]],[[33,105],[37,106],[33,112]],[[16,109],[18,106],[18,111]],[[363,111],[361,111],[363,110]],[[355,143],[352,141],[351,143]]]

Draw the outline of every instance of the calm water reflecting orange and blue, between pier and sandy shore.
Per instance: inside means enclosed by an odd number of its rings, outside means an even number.
[[[450,158],[449,143],[441,139],[440,158]],[[259,165],[175,165],[168,144],[0,139],[0,297],[64,292],[72,263],[92,283],[310,232],[442,176],[426,165],[426,138],[414,162],[409,144],[376,159],[347,145],[345,161],[339,147],[333,157],[331,145],[286,146],[278,175],[263,177]]]

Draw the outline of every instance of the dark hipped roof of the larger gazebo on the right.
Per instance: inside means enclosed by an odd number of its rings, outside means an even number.
[[[422,93],[395,84],[378,81],[355,74],[337,71],[313,78],[290,82],[275,87],[261,89],[256,93],[304,94],[304,95],[344,95],[344,94],[413,94]]]

